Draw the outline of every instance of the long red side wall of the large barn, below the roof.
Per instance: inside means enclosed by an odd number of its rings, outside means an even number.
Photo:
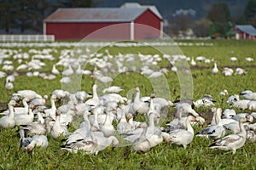
[[[46,34],[55,35],[55,40],[81,40],[84,37],[101,40],[130,39],[130,24],[116,24],[119,23],[46,23]]]

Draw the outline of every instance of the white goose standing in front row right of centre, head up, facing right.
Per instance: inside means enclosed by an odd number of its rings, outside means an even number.
[[[192,142],[194,139],[194,129],[191,127],[190,122],[194,120],[194,116],[188,116],[186,119],[186,127],[185,129],[177,129],[171,131],[170,134],[170,142],[177,145],[183,145],[184,148],[187,147],[188,144]]]

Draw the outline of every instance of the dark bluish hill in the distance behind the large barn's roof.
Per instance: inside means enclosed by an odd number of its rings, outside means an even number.
[[[119,7],[123,3],[140,3],[144,5],[155,5],[164,19],[172,20],[172,14],[179,9],[195,10],[195,20],[206,16],[208,8],[212,3],[228,3],[232,17],[241,15],[248,0],[100,0],[102,4],[98,7]]]

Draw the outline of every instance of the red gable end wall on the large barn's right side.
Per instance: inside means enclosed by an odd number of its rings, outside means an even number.
[[[152,39],[160,37],[161,20],[151,10],[146,10],[135,21],[135,39]],[[140,25],[137,25],[140,24]],[[146,25],[146,26],[143,26]],[[153,27],[153,28],[151,28]]]

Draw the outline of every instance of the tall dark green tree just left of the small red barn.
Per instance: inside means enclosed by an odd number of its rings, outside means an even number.
[[[232,27],[230,8],[227,3],[215,3],[208,11],[207,19],[212,21],[211,36],[225,37]]]

